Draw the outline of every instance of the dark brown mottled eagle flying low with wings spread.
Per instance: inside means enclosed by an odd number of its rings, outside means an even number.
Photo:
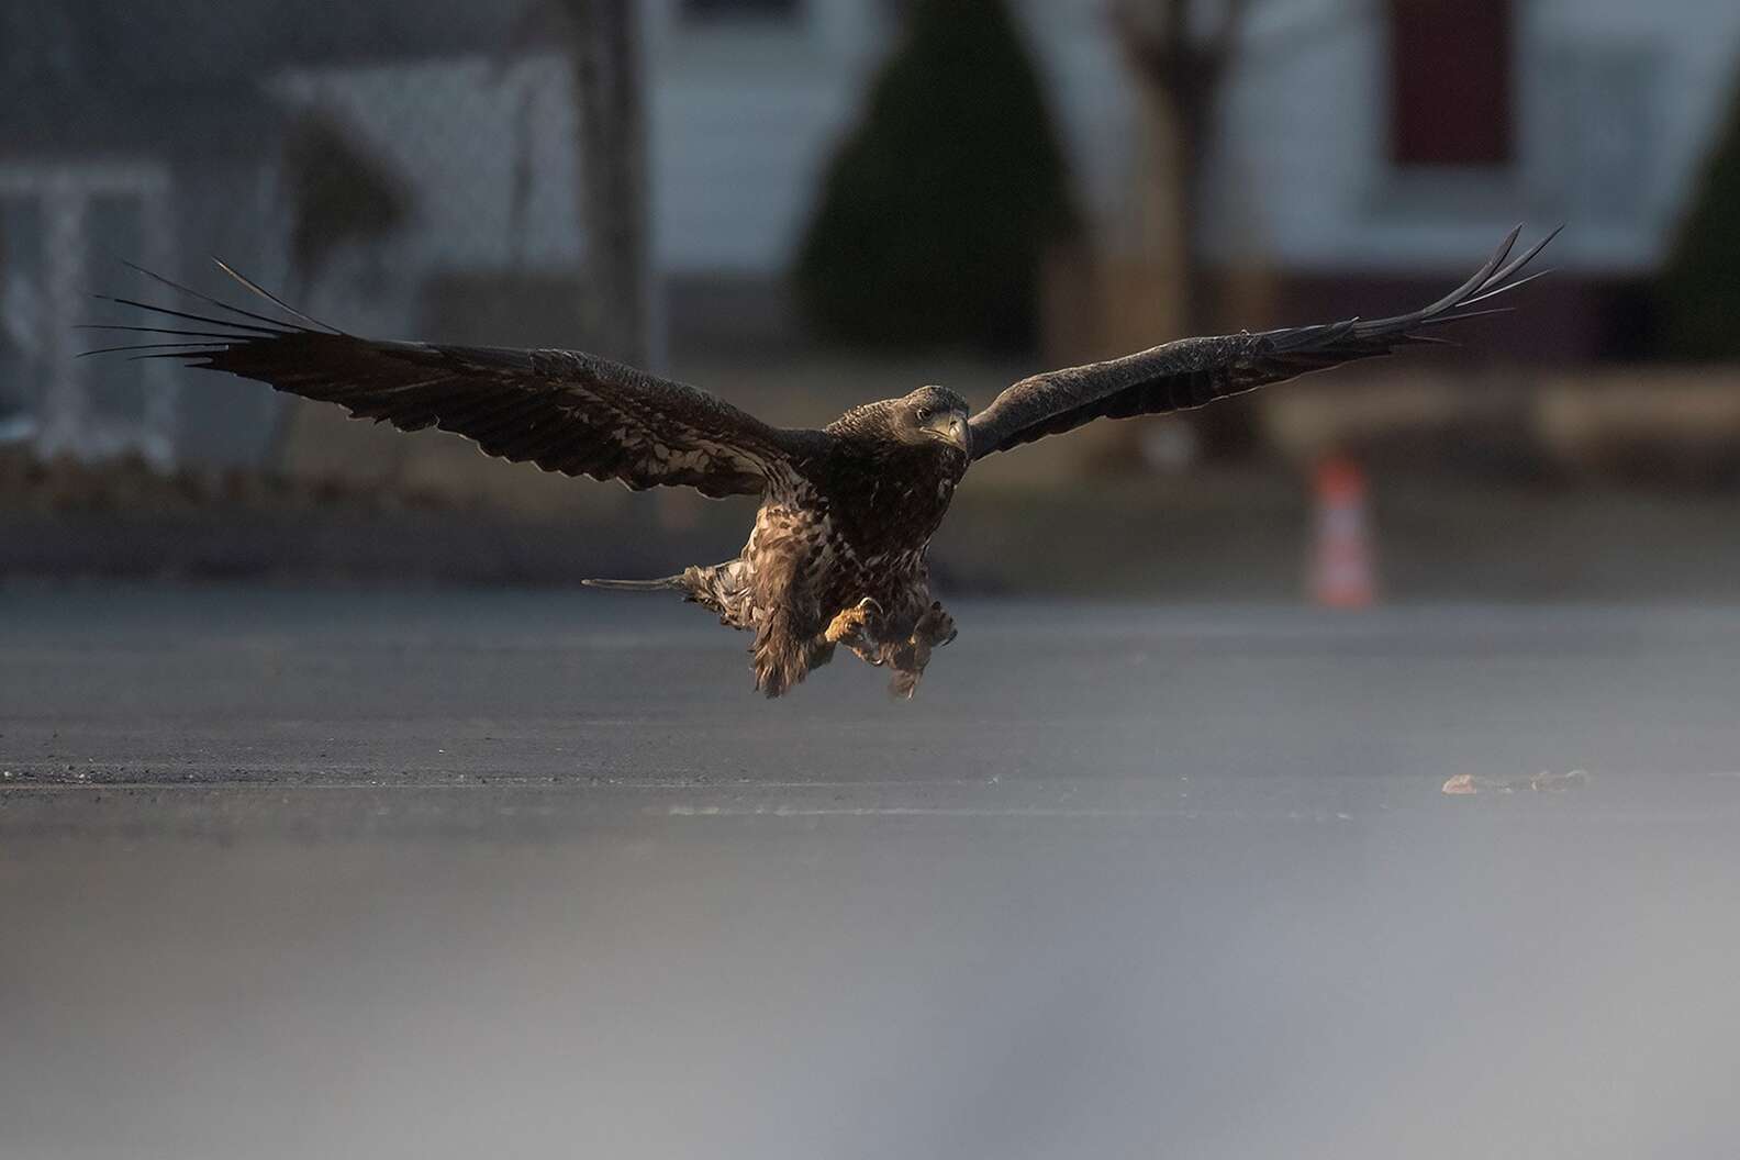
[[[160,315],[164,325],[94,329],[172,341],[89,353],[144,351],[136,357],[228,370],[400,431],[454,431],[489,456],[545,471],[614,478],[635,490],[757,496],[755,527],[734,560],[665,579],[588,583],[682,593],[720,623],[755,633],[755,687],[769,697],[826,664],[839,645],[887,666],[891,692],[910,697],[931,650],[955,638],[954,619],[931,598],[926,550],[976,459],[1093,419],[1202,407],[1310,370],[1439,343],[1423,330],[1493,313],[1481,304],[1540,277],[1517,273],[1556,233],[1512,259],[1517,226],[1472,278],[1408,315],[1166,343],[1023,379],[978,414],[954,391],[924,386],[853,407],[820,431],[771,426],[706,391],[579,351],[357,337],[223,263],[284,317],[150,275],[223,317],[110,297]]]

